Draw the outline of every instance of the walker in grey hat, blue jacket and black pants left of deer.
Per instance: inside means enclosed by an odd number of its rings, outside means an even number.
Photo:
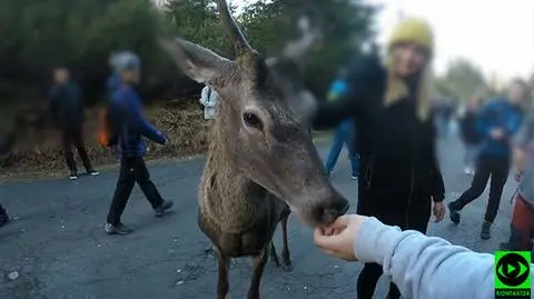
[[[118,133],[115,146],[120,156],[120,172],[109,208],[106,232],[128,235],[131,229],[120,221],[120,217],[136,182],[152,206],[156,217],[162,216],[172,207],[172,201],[164,200],[150,180],[144,160],[147,146],[142,142],[142,137],[160,144],[166,143],[166,137],[142,116],[141,99],[132,88],[139,82],[139,58],[131,52],[120,52],[111,58],[110,64],[115,71],[108,81],[110,116]]]

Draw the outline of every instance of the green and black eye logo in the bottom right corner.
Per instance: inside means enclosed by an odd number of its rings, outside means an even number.
[[[495,299],[531,298],[530,251],[495,252]]]

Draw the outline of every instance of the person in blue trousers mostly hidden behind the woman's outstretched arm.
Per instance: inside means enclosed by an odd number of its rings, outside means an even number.
[[[345,76],[344,72],[342,72],[343,76]],[[342,77],[343,77],[342,76]],[[343,94],[344,92],[346,92],[346,88],[347,87],[347,83],[342,80],[342,79],[338,79],[336,80],[333,84],[332,84],[332,88],[328,92],[328,100],[332,101],[332,100],[335,100],[339,97],[339,94]],[[333,176],[333,171],[334,171],[334,168],[336,167],[336,163],[337,163],[337,159],[339,158],[339,153],[342,152],[342,149],[343,149],[343,146],[345,144],[347,147],[347,150],[348,150],[348,157],[350,159],[350,168],[352,168],[352,176],[350,178],[353,180],[356,180],[358,179],[358,176],[359,176],[359,157],[358,157],[358,153],[356,151],[356,147],[355,147],[355,140],[356,137],[355,137],[355,123],[353,120],[350,119],[346,119],[344,120],[342,123],[339,123],[337,127],[336,127],[336,130],[334,131],[334,139],[332,141],[332,147],[330,147],[330,150],[328,152],[328,156],[326,158],[326,163],[325,163],[325,168],[326,168],[326,173],[328,176]]]

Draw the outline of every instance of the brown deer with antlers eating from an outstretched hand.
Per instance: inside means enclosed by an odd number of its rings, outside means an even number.
[[[307,226],[328,226],[349,205],[325,175],[309,132],[316,99],[299,76],[301,58],[318,36],[309,18],[299,19],[300,39],[267,59],[248,43],[226,0],[216,2],[235,60],[179,38],[162,38],[160,44],[189,78],[220,96],[198,191],[198,226],[217,252],[217,298],[229,292],[230,260],[251,257],[247,298],[258,299],[268,257],[279,265],[273,243],[278,223],[284,269],[290,271],[291,211]]]

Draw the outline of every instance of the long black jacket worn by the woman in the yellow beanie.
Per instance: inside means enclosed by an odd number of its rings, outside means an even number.
[[[445,192],[433,117],[419,120],[413,97],[386,107],[386,80],[378,57],[363,58],[347,76],[348,92],[319,104],[315,124],[326,129],[346,118],[356,122],[362,157],[358,213],[425,231],[432,199],[443,201]]]

